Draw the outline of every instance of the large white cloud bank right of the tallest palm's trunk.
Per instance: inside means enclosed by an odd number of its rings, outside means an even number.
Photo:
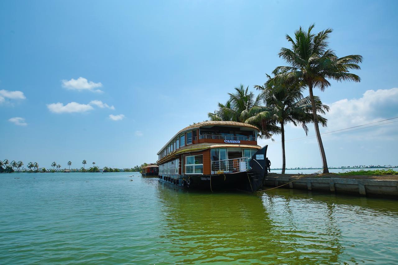
[[[322,131],[334,131],[397,116],[398,88],[380,89],[377,91],[367,90],[363,96],[358,99],[341,99],[330,104],[330,111],[326,114],[328,127]],[[386,122],[388,121],[384,123]],[[373,125],[377,124],[378,123],[375,123]],[[358,130],[355,135],[352,135],[353,137],[358,137],[359,133],[366,132],[366,137],[368,138],[378,137],[381,136],[381,134],[391,136],[391,129],[394,123],[390,125],[373,127],[374,129],[372,131],[369,131],[371,129]],[[342,134],[338,134],[338,136],[341,135]]]

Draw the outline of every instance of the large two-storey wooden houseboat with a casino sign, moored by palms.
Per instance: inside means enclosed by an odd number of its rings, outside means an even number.
[[[204,121],[176,133],[158,152],[159,181],[184,189],[258,191],[267,146],[259,129],[234,121]]]

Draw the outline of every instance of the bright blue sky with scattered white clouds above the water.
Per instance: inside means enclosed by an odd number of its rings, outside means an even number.
[[[361,82],[315,90],[336,131],[398,117],[396,1],[1,1],[0,159],[62,168],[156,162],[227,93],[266,81],[285,35],[334,29]],[[305,92],[304,95],[308,95]],[[390,120],[385,121],[391,122]],[[373,123],[378,125],[380,123]],[[372,126],[368,125],[368,126]],[[286,126],[287,168],[320,167],[312,125]],[[356,128],[355,128],[356,129]],[[280,136],[269,144],[280,167]],[[398,122],[324,136],[329,166],[398,164]]]

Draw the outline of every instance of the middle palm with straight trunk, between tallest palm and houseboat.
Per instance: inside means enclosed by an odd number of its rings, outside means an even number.
[[[263,98],[267,110],[281,125],[282,174],[284,174],[286,169],[285,125],[287,123],[293,123],[295,126],[301,124],[307,135],[306,123],[314,121],[311,100],[309,96],[302,96],[303,86],[300,82],[282,82],[281,80],[273,80],[269,75],[267,77],[271,82],[264,84],[264,86],[255,86],[255,88],[261,91],[260,96]],[[322,104],[319,97],[315,97],[315,101],[318,113],[325,114],[325,111],[329,110],[327,105]],[[320,115],[317,115],[317,117],[322,126],[326,126],[327,120]],[[248,119],[248,123],[256,119],[258,119],[257,116],[251,117]]]

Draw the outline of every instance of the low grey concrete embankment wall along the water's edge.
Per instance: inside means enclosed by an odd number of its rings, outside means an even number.
[[[283,185],[286,184],[286,185]],[[311,177],[309,175],[284,176],[270,174],[265,177],[267,187],[278,187],[287,189],[306,189],[310,191],[326,191],[332,193],[351,193],[361,196],[377,196],[398,199],[398,180],[393,179],[371,179],[371,177],[357,176],[346,177]]]

